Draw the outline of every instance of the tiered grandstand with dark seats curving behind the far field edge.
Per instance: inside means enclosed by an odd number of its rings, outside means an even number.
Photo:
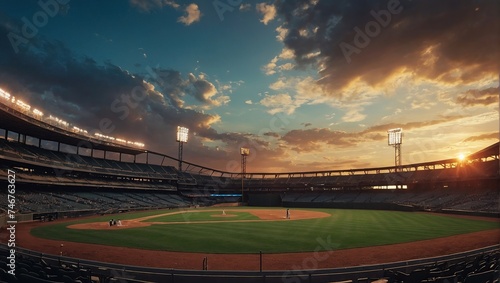
[[[2,103],[0,135],[0,177],[6,179],[8,169],[16,170],[16,209],[23,215],[20,220],[241,200],[241,173],[185,161],[185,170],[181,172],[175,166],[176,158],[59,128]],[[466,162],[448,159],[398,168],[246,173],[243,193],[250,206],[425,210],[499,217],[499,176],[496,143],[468,156]],[[0,206],[7,207],[5,191],[0,193]],[[2,220],[5,224],[5,217]],[[27,259],[28,265],[30,260],[33,259]],[[470,258],[466,260],[447,261],[446,266],[426,262],[404,272],[395,266],[383,275],[379,268],[376,276],[404,281],[401,278],[422,268],[427,275],[442,269],[441,275],[445,276],[451,268],[471,264],[476,273],[491,275],[490,270],[498,267],[498,253],[474,254],[472,262],[469,263]],[[51,262],[50,266],[54,264]],[[58,268],[52,269],[56,276]],[[67,269],[73,275],[85,275],[80,269]],[[73,277],[76,280],[77,276]],[[464,273],[461,278],[466,277]]]

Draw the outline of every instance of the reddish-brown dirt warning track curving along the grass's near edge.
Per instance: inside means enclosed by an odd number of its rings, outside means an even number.
[[[296,213],[296,212],[295,212]],[[292,214],[293,217],[294,214]],[[283,216],[281,216],[283,217]],[[73,221],[74,219],[71,219]],[[498,221],[498,219],[490,219]],[[58,221],[62,222],[62,221]],[[205,254],[149,251],[124,247],[73,243],[36,238],[30,234],[34,227],[47,223],[33,222],[16,226],[16,244],[20,247],[47,254],[63,255],[149,267],[202,269],[203,258],[208,257],[210,270],[258,270],[258,254]],[[7,241],[7,231],[2,229],[0,241]],[[324,239],[324,242],[335,239]],[[264,254],[264,270],[295,270],[335,268],[404,261],[473,250],[500,243],[500,229],[457,235],[406,244],[366,247],[316,253]],[[64,245],[61,248],[61,244]]]

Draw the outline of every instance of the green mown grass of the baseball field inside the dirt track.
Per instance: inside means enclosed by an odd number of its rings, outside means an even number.
[[[120,214],[83,221],[57,223],[34,228],[37,237],[126,246],[151,250],[203,253],[306,252],[387,245],[446,237],[500,228],[499,223],[451,216],[397,211],[307,209],[329,213],[330,217],[293,221],[226,222],[252,220],[247,212],[227,211],[236,217],[216,218],[213,211],[197,211],[152,218],[153,222],[217,220],[216,223],[153,224],[148,227],[109,230],[75,230],[68,225],[134,219],[164,214],[148,211]],[[220,210],[222,211],[222,209]],[[293,211],[292,211],[293,215]]]

